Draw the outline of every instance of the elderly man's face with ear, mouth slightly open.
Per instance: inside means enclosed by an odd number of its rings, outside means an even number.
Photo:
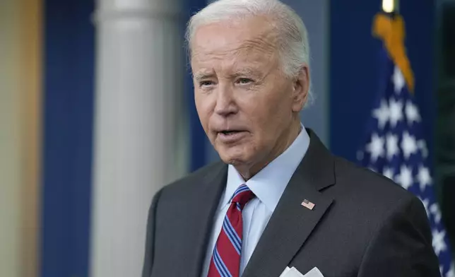
[[[264,17],[203,25],[191,45],[196,109],[225,163],[253,166],[292,143],[307,84],[280,70],[270,26]]]

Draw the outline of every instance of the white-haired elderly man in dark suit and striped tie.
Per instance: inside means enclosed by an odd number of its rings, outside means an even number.
[[[439,276],[422,203],[303,128],[309,46],[294,11],[215,1],[191,18],[187,42],[222,162],[155,195],[143,277]]]

